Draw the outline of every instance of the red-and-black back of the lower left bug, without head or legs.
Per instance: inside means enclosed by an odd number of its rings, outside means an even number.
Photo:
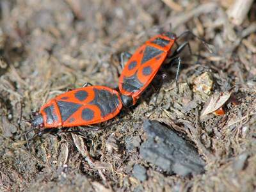
[[[58,95],[42,106],[45,127],[73,127],[104,122],[118,115],[120,95],[106,86],[88,86]]]

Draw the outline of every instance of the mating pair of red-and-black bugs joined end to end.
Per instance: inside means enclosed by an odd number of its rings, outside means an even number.
[[[122,70],[118,83],[119,92],[106,86],[86,84],[83,88],[63,93],[49,100],[32,116],[31,127],[33,130],[40,129],[39,134],[42,134],[47,128],[91,127],[90,125],[115,117],[123,106],[136,104],[166,60],[180,65],[180,58],[176,56],[189,44],[184,42],[171,52],[176,40],[177,36],[168,32],[156,35],[141,45]]]

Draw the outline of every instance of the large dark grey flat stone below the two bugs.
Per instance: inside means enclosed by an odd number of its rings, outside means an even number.
[[[148,136],[140,148],[143,159],[169,174],[186,176],[204,172],[205,163],[196,149],[174,131],[156,121],[144,122],[143,129]]]

